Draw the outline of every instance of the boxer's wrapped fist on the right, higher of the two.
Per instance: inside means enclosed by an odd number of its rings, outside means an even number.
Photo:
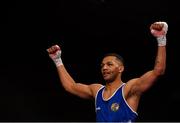
[[[155,22],[151,24],[150,31],[156,37],[158,46],[166,45],[166,34],[168,31],[168,24],[166,22]]]

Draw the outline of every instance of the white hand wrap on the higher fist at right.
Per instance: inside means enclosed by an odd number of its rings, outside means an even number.
[[[168,24],[166,22],[156,22],[157,24],[163,24],[162,30],[164,31],[163,34],[156,37],[158,46],[165,46],[166,45],[166,34],[168,31]]]

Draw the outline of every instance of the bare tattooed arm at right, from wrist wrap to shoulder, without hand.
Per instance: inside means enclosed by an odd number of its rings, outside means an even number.
[[[166,68],[166,47],[158,46],[154,69],[146,72],[140,78],[132,81],[131,93],[141,94],[148,90],[158,77],[164,74]]]

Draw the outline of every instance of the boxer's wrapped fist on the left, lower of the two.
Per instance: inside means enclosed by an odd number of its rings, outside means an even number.
[[[51,46],[47,49],[47,52],[49,53],[49,57],[54,61],[57,67],[63,65],[61,60],[61,49],[58,45]]]

